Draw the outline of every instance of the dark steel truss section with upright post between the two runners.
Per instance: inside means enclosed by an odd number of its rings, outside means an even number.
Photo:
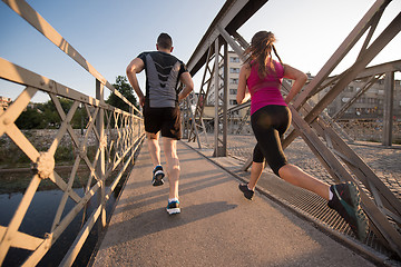
[[[204,132],[207,138],[203,121],[203,111],[206,105],[206,97],[211,93],[214,85],[215,96],[215,120],[214,120],[214,156],[227,155],[227,40],[222,38],[221,29],[226,29],[234,36],[237,47],[245,48],[246,41],[236,30],[246,22],[267,0],[260,1],[232,1],[228,0],[217,14],[212,26],[200,40],[187,66],[192,76],[202,67],[205,67],[202,86],[198,95],[198,102],[194,112],[194,120],[187,129],[188,141],[195,141],[197,132]],[[223,47],[224,52],[221,53]],[[233,46],[231,46],[233,48]],[[242,53],[238,53],[242,57]],[[221,63],[224,62],[224,63]],[[212,66],[211,66],[212,65]],[[224,70],[224,71],[223,71]],[[224,73],[223,73],[224,72]],[[198,139],[197,139],[198,140]],[[200,147],[200,145],[199,145]]]

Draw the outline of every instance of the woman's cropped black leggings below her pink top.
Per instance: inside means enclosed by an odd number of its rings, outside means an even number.
[[[286,106],[268,105],[251,116],[252,129],[257,144],[253,152],[254,162],[266,159],[274,174],[287,164],[281,139],[291,125],[291,111]]]

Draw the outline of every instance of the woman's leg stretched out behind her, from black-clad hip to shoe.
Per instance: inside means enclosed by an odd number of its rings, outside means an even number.
[[[267,106],[262,112],[256,112],[254,113],[256,116],[251,117],[252,128],[257,146],[274,174],[294,186],[307,189],[329,200],[327,206],[345,219],[360,240],[364,240],[368,235],[368,217],[360,205],[361,198],[356,185],[343,182],[330,187],[299,167],[287,164],[281,145],[281,136],[286,130],[285,123],[291,121],[290,110],[287,110],[287,118],[284,118],[286,112],[283,108],[276,106]]]

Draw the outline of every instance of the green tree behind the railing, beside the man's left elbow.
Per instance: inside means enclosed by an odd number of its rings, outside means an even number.
[[[128,83],[128,79],[125,76],[117,76],[116,83],[113,85],[128,101],[130,101],[135,107],[139,108],[136,97],[134,96],[134,89]],[[107,103],[129,112],[128,103],[124,102],[115,93],[111,93],[106,100]]]

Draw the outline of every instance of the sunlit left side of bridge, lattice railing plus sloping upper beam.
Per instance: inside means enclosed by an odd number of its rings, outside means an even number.
[[[134,110],[140,115],[139,110],[104,79],[100,73],[28,3],[22,0],[4,0],[3,2],[96,78],[96,98],[91,98],[0,58],[0,78],[26,87],[7,110],[0,110],[0,136],[7,135],[19,149],[28,156],[32,162],[33,171],[31,181],[11,221],[7,227],[0,226],[0,265],[3,263],[10,248],[21,248],[32,251],[22,266],[37,265],[65,233],[71,221],[88,206],[89,201],[94,202],[94,200],[96,200],[92,198],[97,195],[99,200],[97,207],[95,207],[94,211],[86,218],[86,224],[81,227],[72,246],[60,264],[60,266],[71,266],[95,224],[99,221],[101,226],[106,225],[106,204],[114,194],[123,175],[126,174],[127,167],[133,162],[134,155],[144,139],[143,119],[134,115]],[[131,107],[130,112],[107,105],[104,101],[105,87],[121,97],[121,99]],[[16,126],[16,120],[38,91],[49,95],[61,119],[57,135],[46,151],[38,150]],[[72,100],[74,103],[68,111],[65,111],[61,107],[60,98]],[[79,107],[81,108],[79,109]],[[79,140],[70,125],[74,115],[77,113],[78,110],[80,112],[85,110],[88,116],[88,123],[82,140]],[[55,161],[55,152],[66,135],[71,138],[72,147],[76,151],[68,179],[62,178],[55,169],[58,164]],[[92,160],[88,157],[89,135],[95,136],[97,144]],[[79,196],[72,189],[72,184],[78,179],[78,167],[82,164],[90,174],[85,187],[85,194],[84,196]],[[116,171],[117,175],[111,175],[111,172]],[[20,226],[40,182],[43,180],[53,182],[63,191],[63,196],[58,205],[51,228],[43,237],[36,237],[20,231]],[[106,187],[106,181],[109,184],[108,187]],[[66,204],[69,199],[75,204],[70,210],[66,210]]]

